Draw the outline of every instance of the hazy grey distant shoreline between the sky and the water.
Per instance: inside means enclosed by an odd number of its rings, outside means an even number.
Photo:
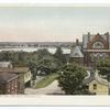
[[[80,42],[79,45],[82,43]],[[13,47],[70,47],[75,42],[0,42],[0,48]]]

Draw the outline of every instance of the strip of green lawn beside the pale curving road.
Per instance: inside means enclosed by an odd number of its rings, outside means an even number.
[[[38,82],[36,82],[35,88],[44,88],[46,86],[48,86],[50,84],[52,84],[56,78],[58,77],[57,74],[51,74],[45,76],[42,80],[40,80]]]

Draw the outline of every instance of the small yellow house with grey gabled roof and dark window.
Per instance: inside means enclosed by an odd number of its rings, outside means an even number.
[[[110,82],[98,75],[98,70],[88,72],[88,76],[84,80],[84,85],[92,95],[109,95]]]

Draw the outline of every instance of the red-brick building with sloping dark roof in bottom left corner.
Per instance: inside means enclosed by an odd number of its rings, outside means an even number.
[[[0,74],[0,95],[19,94],[19,75],[2,73]]]

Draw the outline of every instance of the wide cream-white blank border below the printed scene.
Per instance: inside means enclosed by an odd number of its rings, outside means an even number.
[[[110,96],[1,96],[0,106],[74,106],[74,107],[108,107],[110,106]]]

